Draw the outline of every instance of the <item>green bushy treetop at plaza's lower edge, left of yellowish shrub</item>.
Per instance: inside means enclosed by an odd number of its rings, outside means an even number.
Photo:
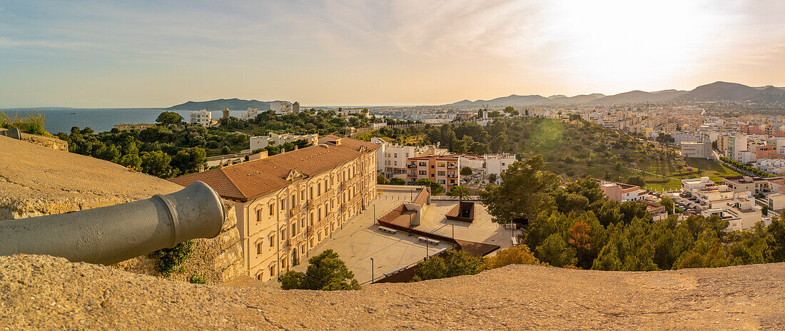
[[[414,282],[427,279],[448,278],[460,275],[475,275],[480,272],[482,259],[462,249],[451,249],[442,256],[433,256],[417,264]]]

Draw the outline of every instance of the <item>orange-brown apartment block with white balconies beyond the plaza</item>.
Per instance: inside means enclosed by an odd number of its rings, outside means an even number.
[[[461,184],[460,162],[456,155],[435,155],[409,158],[407,181],[411,184],[427,179],[441,184],[445,191]]]

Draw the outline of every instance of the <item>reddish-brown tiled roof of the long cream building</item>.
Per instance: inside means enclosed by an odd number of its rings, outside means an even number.
[[[366,147],[365,151],[360,151],[363,146]],[[378,147],[377,144],[344,138],[338,146],[319,144],[238,165],[193,173],[170,181],[187,186],[200,180],[213,187],[223,198],[245,202],[289,185],[290,181],[286,180],[286,177],[292,169],[297,169],[305,176],[313,176]]]

